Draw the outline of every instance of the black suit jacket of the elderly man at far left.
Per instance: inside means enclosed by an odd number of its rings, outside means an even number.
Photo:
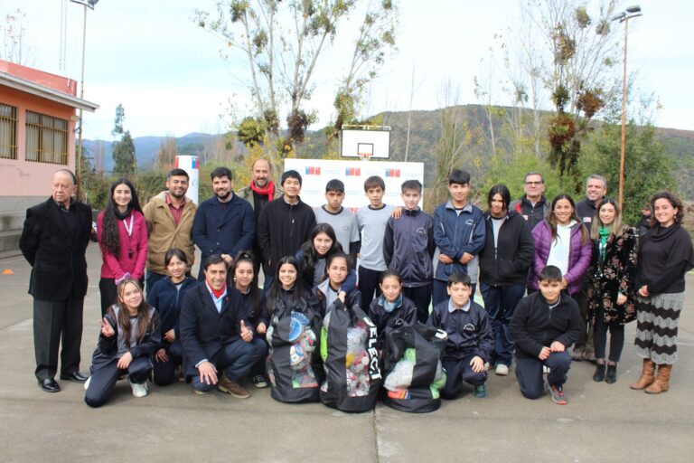
[[[29,294],[58,301],[87,294],[87,260],[84,254],[91,232],[91,209],[77,201],[70,204],[75,232],[70,232],[53,198],[26,210],[19,248],[32,266]]]

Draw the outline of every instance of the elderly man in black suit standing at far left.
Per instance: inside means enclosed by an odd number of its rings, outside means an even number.
[[[45,392],[59,392],[61,380],[84,383],[80,373],[82,309],[87,294],[85,252],[91,231],[91,209],[72,199],[75,175],[67,169],[52,176],[52,194],[26,211],[19,247],[32,265],[33,349],[36,379]]]

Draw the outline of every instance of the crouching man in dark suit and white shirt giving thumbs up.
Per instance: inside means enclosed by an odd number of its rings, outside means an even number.
[[[211,392],[216,385],[246,399],[250,394],[239,381],[267,347],[241,314],[241,293],[227,286],[227,265],[220,254],[208,257],[203,269],[204,283],[185,293],[181,307],[183,372],[193,392]]]

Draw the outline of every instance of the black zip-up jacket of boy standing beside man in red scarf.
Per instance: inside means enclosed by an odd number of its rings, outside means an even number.
[[[270,201],[263,207],[258,219],[258,247],[266,265],[270,262],[270,275],[275,274],[277,260],[294,256],[304,241],[311,238],[315,226],[315,214],[306,203],[286,203],[284,196]]]

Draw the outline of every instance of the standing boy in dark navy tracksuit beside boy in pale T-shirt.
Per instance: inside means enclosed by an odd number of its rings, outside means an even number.
[[[400,191],[405,209],[399,219],[388,219],[383,258],[389,269],[398,270],[402,294],[412,299],[417,306],[417,320],[424,323],[429,315],[434,280],[434,219],[418,206],[422,197],[418,180],[403,182]]]

